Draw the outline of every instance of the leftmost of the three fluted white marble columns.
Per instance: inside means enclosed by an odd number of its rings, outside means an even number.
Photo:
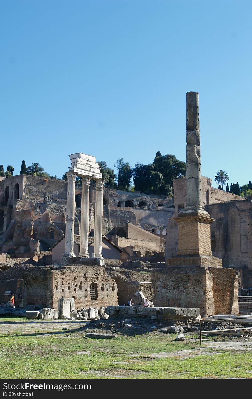
[[[74,255],[74,209],[75,209],[75,179],[76,173],[68,172],[67,176],[67,197],[66,197],[66,234],[64,257]]]

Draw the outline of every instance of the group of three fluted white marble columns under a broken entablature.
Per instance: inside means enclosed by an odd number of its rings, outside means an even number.
[[[66,236],[64,257],[74,255],[74,209],[75,209],[75,179],[76,172],[67,172],[67,198],[66,198]],[[90,176],[82,177],[82,198],[80,213],[80,253],[79,257],[89,258],[88,233],[89,233],[89,185]],[[102,258],[102,211],[103,211],[103,184],[104,180],[96,180],[96,199],[94,216],[94,254],[95,258]]]

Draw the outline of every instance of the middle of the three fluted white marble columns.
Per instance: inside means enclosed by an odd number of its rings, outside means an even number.
[[[80,253],[79,256],[89,258],[88,233],[89,233],[89,184],[90,177],[82,178],[81,213],[80,213]]]

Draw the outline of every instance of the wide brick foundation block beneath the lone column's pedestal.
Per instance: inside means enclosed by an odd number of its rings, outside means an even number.
[[[238,313],[238,273],[220,267],[169,267],[152,272],[155,306],[200,308],[201,316]]]

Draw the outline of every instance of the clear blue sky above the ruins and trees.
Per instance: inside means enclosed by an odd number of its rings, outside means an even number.
[[[252,180],[252,2],[2,0],[0,164],[62,177],[69,154],[113,167],[186,160],[200,93],[202,175]]]

